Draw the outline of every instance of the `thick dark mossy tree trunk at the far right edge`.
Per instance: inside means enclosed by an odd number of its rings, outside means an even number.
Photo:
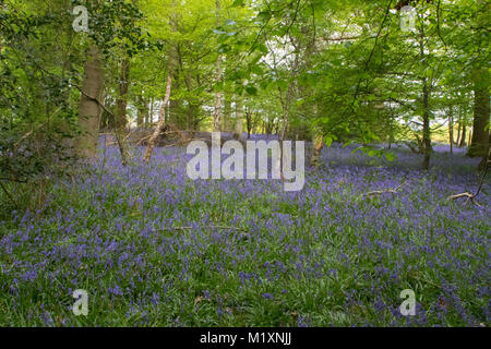
[[[489,73],[487,69],[478,70],[475,73],[474,88],[474,123],[472,139],[467,156],[484,157],[488,154],[489,145]]]

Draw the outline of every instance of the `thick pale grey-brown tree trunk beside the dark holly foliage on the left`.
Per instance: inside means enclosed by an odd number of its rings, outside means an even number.
[[[97,140],[101,108],[98,103],[101,98],[104,85],[104,70],[101,67],[97,46],[91,45],[86,53],[82,96],[79,106],[80,136],[75,140],[75,149],[79,156],[94,159],[97,157]]]

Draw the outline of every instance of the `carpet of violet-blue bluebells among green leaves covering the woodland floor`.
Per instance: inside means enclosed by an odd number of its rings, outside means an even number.
[[[156,148],[148,166],[134,148],[124,168],[101,146],[41,208],[0,222],[0,325],[489,326],[490,181],[481,206],[446,200],[476,190],[479,159],[435,146],[423,172],[402,147],[392,163],[354,149],[324,148],[285,192],[192,181],[185,148]]]

